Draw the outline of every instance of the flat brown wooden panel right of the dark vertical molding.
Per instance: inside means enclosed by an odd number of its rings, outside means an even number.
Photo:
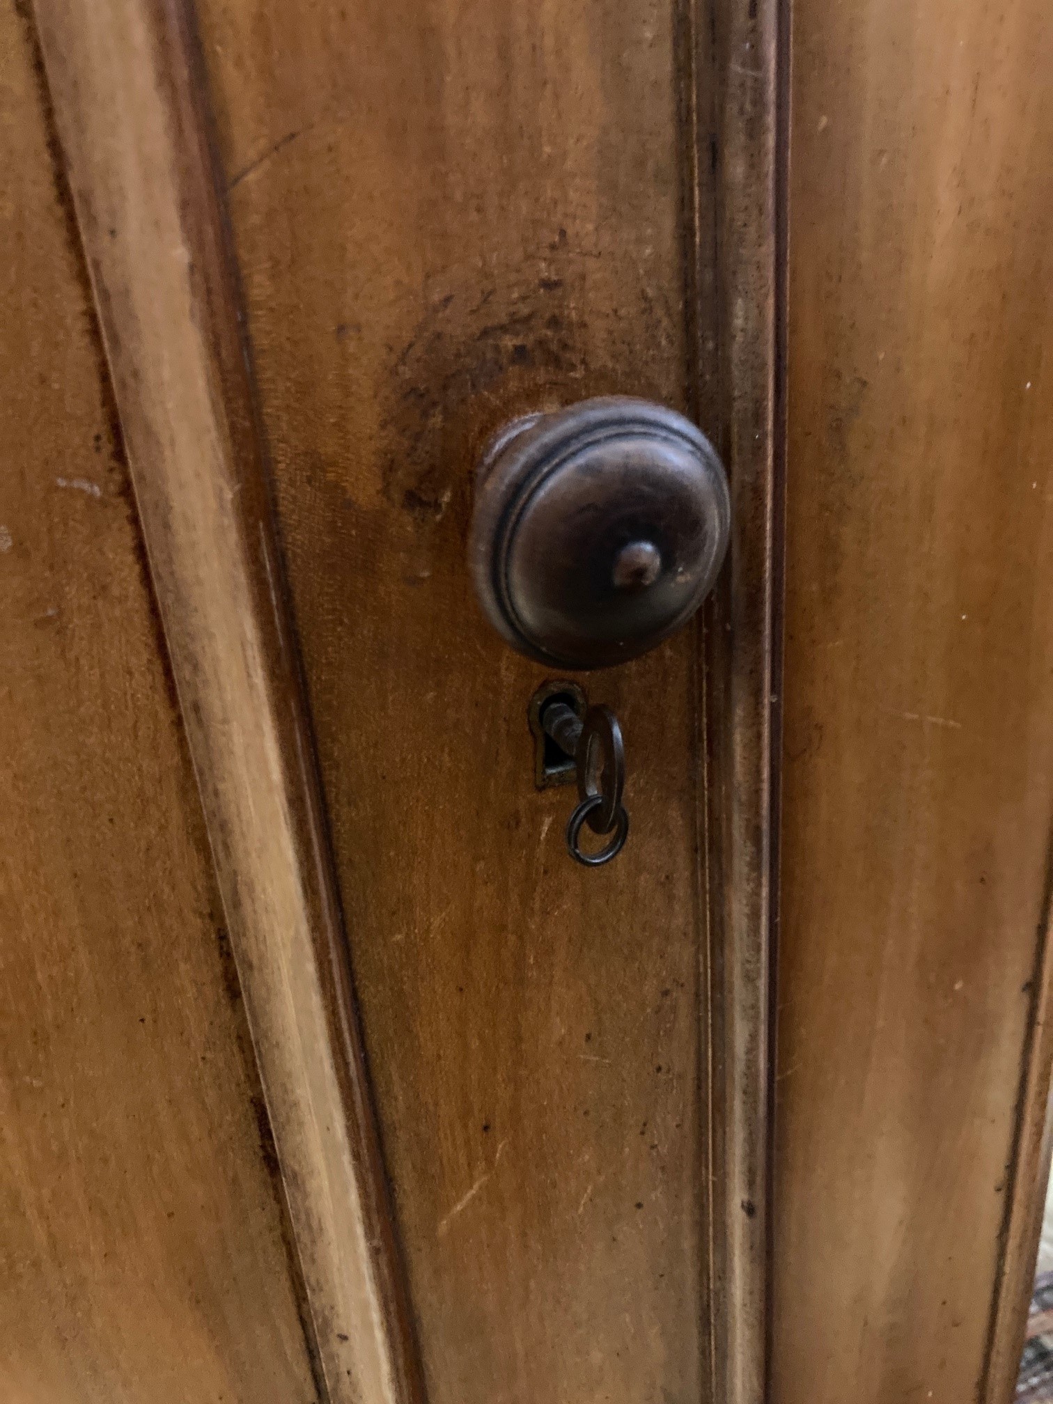
[[[986,1359],[1014,1163],[1039,1170],[1053,819],[1052,65],[1036,0],[793,7],[778,1404],[1009,1397]]]

